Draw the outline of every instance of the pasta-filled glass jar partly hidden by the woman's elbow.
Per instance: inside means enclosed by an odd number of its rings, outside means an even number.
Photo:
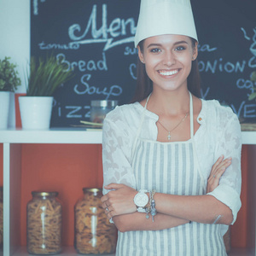
[[[82,254],[114,253],[117,229],[102,208],[102,189],[83,189],[84,197],[74,207],[74,247]]]

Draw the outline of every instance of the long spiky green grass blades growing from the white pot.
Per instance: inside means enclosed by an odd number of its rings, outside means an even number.
[[[26,96],[52,96],[61,84],[72,78],[72,73],[53,55],[38,60],[32,57],[30,73],[27,74]]]

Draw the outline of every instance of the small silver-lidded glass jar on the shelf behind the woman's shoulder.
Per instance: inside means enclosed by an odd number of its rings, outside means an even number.
[[[118,101],[90,101],[90,121],[103,123],[106,114],[116,107]]]

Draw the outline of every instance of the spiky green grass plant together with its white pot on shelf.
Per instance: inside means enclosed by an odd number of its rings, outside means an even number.
[[[49,129],[53,94],[72,77],[72,71],[55,56],[31,58],[27,74],[26,96],[20,96],[20,117],[23,129]]]

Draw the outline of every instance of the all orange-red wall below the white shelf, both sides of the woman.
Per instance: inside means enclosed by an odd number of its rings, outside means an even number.
[[[254,170],[247,165],[250,146],[242,147],[241,211],[231,227],[232,247],[251,247],[255,214],[252,208],[251,178]],[[26,203],[32,190],[56,190],[63,204],[63,244],[73,245],[73,206],[84,187],[102,187],[102,146],[67,144],[23,144],[21,153],[21,245],[26,245]],[[0,144],[0,185],[3,183],[3,144]],[[254,189],[255,190],[255,189]],[[248,203],[248,198],[251,201]],[[254,215],[253,215],[254,214]],[[254,235],[253,235],[254,237]]]

